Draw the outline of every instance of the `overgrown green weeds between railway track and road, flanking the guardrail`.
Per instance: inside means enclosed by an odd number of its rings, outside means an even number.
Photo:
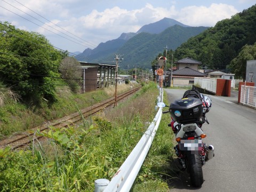
[[[78,127],[51,127],[43,133],[48,142],[35,141],[31,150],[0,151],[0,190],[93,191],[94,180],[111,180],[137,144],[156,114],[157,95],[155,84],[144,86],[118,107],[83,119]],[[170,116],[163,115],[132,191],[167,190],[171,173],[167,159],[173,156],[169,121]]]

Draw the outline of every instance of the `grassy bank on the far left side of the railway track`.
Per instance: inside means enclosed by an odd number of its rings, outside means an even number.
[[[1,87],[1,84],[0,84]],[[117,92],[125,92],[131,89],[131,85],[118,85]],[[13,133],[21,133],[42,124],[48,124],[53,119],[77,112],[77,107],[83,109],[95,103],[107,100],[114,96],[113,87],[105,87],[96,91],[74,94],[68,86],[57,89],[58,101],[49,103],[42,100],[40,106],[33,103],[21,103],[18,95],[10,89],[0,88],[0,139]],[[13,99],[11,99],[13,98]],[[9,102],[7,102],[9,101]]]

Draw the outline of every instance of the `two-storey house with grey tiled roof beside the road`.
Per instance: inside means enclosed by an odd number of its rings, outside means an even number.
[[[181,59],[175,62],[177,70],[172,72],[173,86],[187,86],[194,84],[195,77],[207,77],[206,74],[201,73],[198,69],[202,62],[191,58]]]

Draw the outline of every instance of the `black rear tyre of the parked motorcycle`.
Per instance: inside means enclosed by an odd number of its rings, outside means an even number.
[[[191,185],[201,187],[204,181],[201,158],[196,154],[187,155]]]

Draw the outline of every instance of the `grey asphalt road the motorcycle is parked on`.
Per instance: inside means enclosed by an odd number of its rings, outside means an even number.
[[[185,91],[165,89],[170,102]],[[237,92],[230,98],[211,98],[212,108],[206,114],[210,124],[203,125],[207,135],[203,140],[214,146],[215,157],[203,166],[204,183],[201,188],[191,187],[186,171],[177,172],[170,191],[256,191],[256,110],[239,105]]]

